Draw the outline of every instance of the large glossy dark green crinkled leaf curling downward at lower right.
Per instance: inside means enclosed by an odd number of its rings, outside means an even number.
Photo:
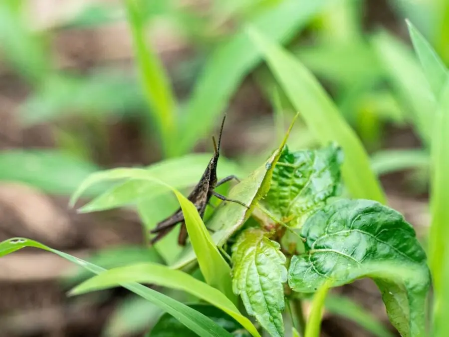
[[[341,199],[312,214],[301,236],[306,252],[292,258],[288,271],[294,291],[314,292],[328,279],[340,286],[371,277],[402,336],[424,336],[430,284],[426,254],[400,213],[370,200]],[[373,267],[379,262],[399,266],[392,273],[401,266],[410,273],[391,280]]]

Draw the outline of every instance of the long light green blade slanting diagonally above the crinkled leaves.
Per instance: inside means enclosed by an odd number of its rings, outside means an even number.
[[[271,42],[255,28],[248,34],[259,48],[293,106],[301,112],[309,129],[323,145],[336,141],[345,154],[342,173],[356,198],[385,203],[385,195],[373,174],[368,155],[355,132],[312,73],[291,54]]]

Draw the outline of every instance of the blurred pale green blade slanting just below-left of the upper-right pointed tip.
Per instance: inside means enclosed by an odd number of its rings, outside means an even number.
[[[421,139],[430,144],[435,99],[414,55],[399,39],[387,32],[376,34],[372,43]]]

